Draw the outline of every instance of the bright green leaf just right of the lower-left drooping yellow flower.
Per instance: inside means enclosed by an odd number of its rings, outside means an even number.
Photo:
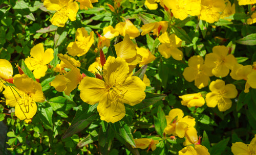
[[[44,124],[46,129],[53,130],[53,123],[52,123],[52,115],[53,110],[52,107],[47,108],[39,108],[38,115],[40,117],[40,120],[42,121],[42,124]]]

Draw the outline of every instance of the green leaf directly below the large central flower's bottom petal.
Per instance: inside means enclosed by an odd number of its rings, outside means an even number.
[[[117,134],[119,134],[127,143],[135,147],[135,142],[133,140],[133,135],[131,133],[130,127],[123,121],[115,122],[114,126]]]

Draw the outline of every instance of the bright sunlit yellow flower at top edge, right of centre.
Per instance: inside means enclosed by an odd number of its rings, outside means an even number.
[[[163,0],[163,4],[172,9],[175,18],[184,20],[187,15],[200,15],[201,0]]]

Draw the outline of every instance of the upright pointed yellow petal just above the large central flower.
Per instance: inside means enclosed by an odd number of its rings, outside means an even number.
[[[131,41],[129,35],[125,35],[123,41],[114,45],[117,57],[131,59],[136,56],[135,44]]]

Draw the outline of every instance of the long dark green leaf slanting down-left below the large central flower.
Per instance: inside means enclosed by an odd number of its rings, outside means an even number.
[[[62,136],[62,138],[68,138],[76,133],[79,133],[80,131],[84,130],[87,126],[89,126],[99,115],[97,113],[87,115],[88,117],[84,117],[86,119],[81,119],[76,123],[71,123],[68,130],[65,132],[65,134]]]

